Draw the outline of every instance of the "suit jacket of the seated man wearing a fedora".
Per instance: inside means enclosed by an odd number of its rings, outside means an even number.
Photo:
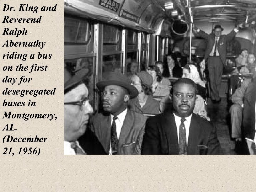
[[[117,154],[140,154],[146,117],[128,109],[118,140]],[[90,126],[79,139],[87,154],[109,154],[110,114],[97,113],[92,116]]]

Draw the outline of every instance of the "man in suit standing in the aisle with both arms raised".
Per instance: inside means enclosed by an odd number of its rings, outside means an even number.
[[[240,25],[242,27],[242,25]],[[205,69],[205,61],[208,59],[208,72],[211,87],[211,98],[213,103],[219,103],[220,83],[223,73],[223,68],[226,63],[226,46],[227,42],[233,39],[238,32],[238,28],[234,28],[229,34],[222,35],[223,28],[220,25],[215,25],[213,33],[207,34],[199,30],[193,25],[193,29],[199,36],[207,39],[207,47],[204,53],[204,59],[200,63],[201,68]]]

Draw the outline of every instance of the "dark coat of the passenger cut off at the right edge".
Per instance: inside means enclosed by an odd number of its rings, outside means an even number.
[[[244,95],[243,127],[245,137],[254,139],[255,136],[255,100],[256,80],[250,82]]]

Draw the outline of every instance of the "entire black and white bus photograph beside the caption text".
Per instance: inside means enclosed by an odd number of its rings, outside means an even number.
[[[64,154],[255,154],[256,1],[64,0]]]

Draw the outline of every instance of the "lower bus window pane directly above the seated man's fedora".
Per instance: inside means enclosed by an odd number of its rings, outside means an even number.
[[[102,61],[103,79],[106,79],[113,72],[122,73],[121,54],[104,55]]]

